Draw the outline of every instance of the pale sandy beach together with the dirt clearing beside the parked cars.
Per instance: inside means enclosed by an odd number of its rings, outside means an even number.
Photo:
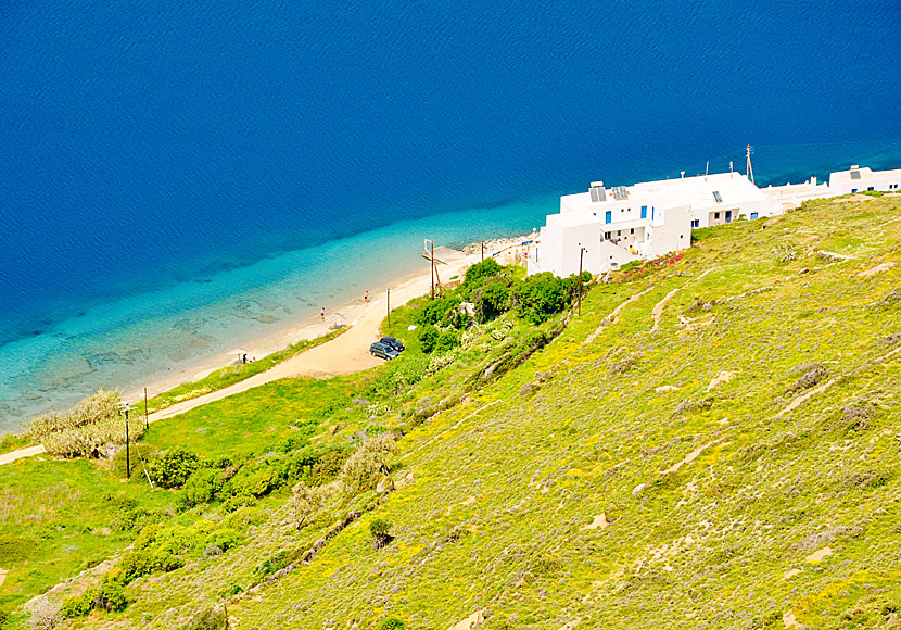
[[[521,243],[529,238],[519,237],[485,241],[484,257],[487,259],[496,254],[495,259],[500,264],[521,262],[523,260],[524,249]],[[479,243],[469,245],[464,251],[452,250],[449,248],[439,248],[435,250],[435,266],[440,279],[444,282],[451,281],[451,278],[455,276],[461,276],[467,267],[478,263],[481,259],[482,251]],[[241,348],[246,350],[250,358],[263,357],[297,341],[315,339],[335,328],[350,326],[350,330],[337,339],[302,352],[265,373],[255,375],[231,387],[178,403],[166,410],[151,414],[150,419],[153,421],[176,416],[194,407],[280,378],[297,376],[327,378],[339,374],[353,374],[375,367],[382,360],[369,354],[369,344],[379,339],[381,322],[388,314],[389,289],[391,291],[391,307],[394,308],[406,304],[414,298],[428,293],[430,286],[430,266],[429,262],[423,259],[421,268],[401,276],[385,286],[370,290],[368,302],[360,295],[355,300],[335,307],[327,304],[325,305],[325,319],[318,315],[307,317],[293,325],[289,324],[265,337],[244,343]],[[148,394],[155,395],[182,382],[198,380],[215,369],[234,365],[236,363],[237,355],[224,355],[219,361],[208,361],[204,364],[181,370],[177,375],[166,375],[152,381],[148,387]],[[143,389],[128,391],[125,394],[126,400],[136,401],[142,396]]]

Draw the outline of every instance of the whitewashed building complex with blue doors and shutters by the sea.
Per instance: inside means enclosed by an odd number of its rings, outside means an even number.
[[[606,188],[595,181],[585,192],[560,198],[559,214],[547,216],[529,251],[529,274],[593,274],[629,261],[648,260],[690,247],[691,230],[782,214],[804,201],[863,190],[899,190],[901,169],[873,172],[852,166],[833,173],[829,184],[758,188],[740,173],[718,173],[634,186]],[[584,248],[584,252],[582,249]]]

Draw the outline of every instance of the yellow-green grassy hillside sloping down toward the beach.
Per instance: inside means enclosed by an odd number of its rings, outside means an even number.
[[[278,381],[151,426],[148,443],[210,459],[350,445],[386,468],[300,507],[287,488],[186,508],[140,478],[98,481],[69,496],[83,513],[114,492],[151,516],[110,549],[91,542],[113,562],[47,598],[122,570],[135,552],[115,550],[140,531],[136,549],[162,553],[151,524],[169,519],[234,539],[137,577],[123,612],[66,623],[221,627],[226,605],[239,629],[901,627],[901,198],[814,202],[696,238],[595,286],[581,316],[477,327],[443,369],[413,341],[396,365]],[[415,311],[389,331],[409,336]],[[403,434],[393,451],[372,445],[384,429]],[[344,478],[317,484],[318,457],[309,488]],[[0,469],[5,504],[27,504],[26,475],[77,468],[89,484],[90,466]],[[94,541],[97,519],[72,540]],[[21,610],[29,591],[13,575],[0,597]]]

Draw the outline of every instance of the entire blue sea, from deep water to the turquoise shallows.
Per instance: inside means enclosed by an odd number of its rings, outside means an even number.
[[[0,433],[592,180],[901,167],[901,3],[0,3]]]

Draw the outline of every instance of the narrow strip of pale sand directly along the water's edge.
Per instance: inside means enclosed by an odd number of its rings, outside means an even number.
[[[500,264],[510,264],[518,262],[521,259],[518,259],[518,248],[521,242],[524,240],[529,240],[531,235],[524,235],[515,238],[496,238],[484,241],[485,244],[485,257],[492,257],[492,254],[499,253],[497,256],[498,262]],[[439,268],[440,275],[441,269],[443,267],[447,267],[448,269],[456,269],[457,273],[460,273],[462,268],[468,267],[481,259],[481,251],[480,251],[480,242],[470,243],[469,245],[464,247],[461,250],[454,250],[451,248],[440,248],[435,252],[435,264]],[[441,261],[441,253],[446,260]],[[441,262],[439,262],[441,261]],[[263,358],[264,356],[271,354],[274,352],[278,352],[288,348],[289,345],[296,343],[302,340],[310,340],[327,335],[337,328],[350,326],[355,326],[365,315],[369,315],[370,317],[375,313],[372,308],[377,304],[381,304],[384,307],[384,302],[382,301],[386,297],[386,290],[392,290],[392,298],[391,298],[391,305],[392,308],[406,304],[409,300],[418,298],[429,292],[430,290],[430,282],[431,282],[431,273],[429,267],[429,262],[423,259],[422,266],[424,268],[417,268],[404,274],[401,274],[388,282],[384,282],[375,289],[369,289],[369,302],[364,300],[363,294],[358,298],[347,300],[345,302],[340,303],[338,306],[330,307],[328,304],[326,305],[326,318],[325,320],[321,319],[318,315],[312,316],[304,316],[303,318],[299,318],[293,322],[284,322],[281,326],[277,329],[266,332],[263,336],[257,336],[252,338],[249,341],[244,341],[241,344],[241,349],[246,350],[246,354],[249,361],[252,358]],[[449,277],[443,277],[444,282],[449,281]],[[418,285],[421,285],[419,289],[416,289]],[[364,290],[366,291],[366,290]],[[385,313],[382,317],[386,315]],[[379,317],[379,322],[381,322],[381,317]],[[328,345],[328,344],[326,344]],[[326,348],[318,346],[318,348]],[[236,349],[238,346],[236,345]],[[368,349],[367,356],[368,356]],[[304,353],[309,351],[304,351],[301,353],[302,356]],[[271,373],[272,370],[278,369],[280,366],[284,365],[285,363],[290,363],[292,360],[288,360],[274,368],[262,373],[257,376],[263,377]],[[154,395],[161,394],[166,392],[175,387],[180,385],[193,382],[200,380],[213,371],[221,369],[224,367],[228,367],[231,365],[237,365],[237,353],[231,355],[219,355],[218,357],[213,358],[205,358],[201,360],[194,364],[191,364],[187,367],[183,367],[178,370],[178,373],[173,374],[165,374],[152,377],[148,380],[147,392],[149,398],[153,398]],[[378,365],[376,363],[375,365]],[[325,369],[319,370],[319,375],[321,377],[333,376],[335,374],[346,374],[344,369],[329,369],[328,366]],[[285,370],[281,370],[285,371]],[[291,371],[291,370],[288,370]],[[315,371],[315,370],[314,370]],[[352,370],[355,371],[355,370]],[[313,373],[310,373],[313,375]],[[281,378],[285,378],[290,375],[285,374],[285,376]],[[252,377],[254,378],[254,377]],[[245,379],[250,380],[250,379]],[[240,381],[236,385],[240,386],[244,381]],[[229,389],[229,388],[226,388]],[[248,388],[249,389],[249,388]],[[221,390],[220,390],[221,391]],[[211,392],[211,394],[215,394],[216,392]],[[143,399],[144,388],[140,387],[137,389],[124,389],[123,390],[123,398],[130,402],[137,403]],[[200,396],[204,398],[204,396]],[[192,399],[199,400],[199,399]],[[191,402],[191,401],[186,401]],[[174,405],[175,406],[175,405]],[[161,413],[168,411],[172,407],[167,407],[167,410],[163,410]],[[169,414],[166,414],[168,417]]]

